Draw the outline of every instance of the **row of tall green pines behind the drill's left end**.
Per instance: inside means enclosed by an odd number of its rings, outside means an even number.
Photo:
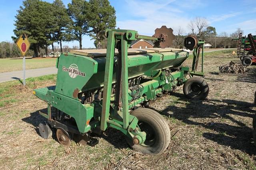
[[[100,49],[105,43],[104,32],[116,27],[116,11],[108,0],[72,0],[67,8],[62,0],[53,3],[42,0],[24,0],[17,10],[14,23],[14,42],[26,33],[34,56],[44,49],[48,55],[48,46],[54,43],[78,41],[82,49],[82,36],[89,35],[95,46]]]

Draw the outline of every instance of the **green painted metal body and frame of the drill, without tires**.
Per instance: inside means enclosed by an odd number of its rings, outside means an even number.
[[[203,76],[203,43],[202,71],[195,70],[198,48],[194,49],[192,70],[180,67],[189,53],[183,50],[129,54],[128,47],[132,40],[157,38],[138,35],[134,30],[107,30],[108,45],[106,57],[91,57],[68,53],[60,55],[56,67],[58,76],[56,86],[34,90],[35,95],[48,105],[48,121],[51,120],[50,108],[56,108],[74,118],[78,131],[82,134],[108,127],[116,128],[128,138],[136,137],[140,144],[146,139],[146,133],[138,128],[138,119],[130,115],[130,110],[144,102],[154,101],[157,95],[172,91],[176,86],[187,81],[186,75]],[[119,54],[115,55],[115,45],[119,43]],[[118,45],[117,45],[118,46]],[[121,62],[118,63],[121,59]],[[121,65],[118,65],[121,64]],[[120,66],[120,94],[113,93],[116,82],[116,71]],[[140,89],[138,97],[133,96],[129,81],[138,81],[134,87]],[[102,89],[104,87],[104,89]],[[101,98],[101,93],[103,97]],[[98,98],[92,99],[92,94]],[[90,98],[86,98],[89,95]],[[120,103],[115,103],[120,95]],[[82,99],[84,97],[84,101]],[[41,114],[42,115],[42,114]],[[44,115],[45,116],[45,115]]]

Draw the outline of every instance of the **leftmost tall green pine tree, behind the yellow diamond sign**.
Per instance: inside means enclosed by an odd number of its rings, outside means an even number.
[[[47,53],[47,46],[52,43],[50,35],[54,26],[52,4],[40,0],[24,0],[22,5],[15,16],[16,37],[12,39],[16,41],[24,32],[30,40],[30,48],[34,50],[35,56],[38,56],[40,47],[46,49]]]

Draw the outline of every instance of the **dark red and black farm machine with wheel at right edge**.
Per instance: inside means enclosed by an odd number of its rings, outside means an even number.
[[[248,37],[244,41],[246,53],[240,56],[240,60],[243,65],[248,66],[252,63],[256,63],[256,36],[248,34]]]

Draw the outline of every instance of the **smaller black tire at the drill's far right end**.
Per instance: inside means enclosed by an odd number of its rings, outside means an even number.
[[[193,90],[194,88],[196,88],[196,90]],[[183,85],[183,93],[188,99],[203,100],[209,93],[209,86],[204,79],[192,77]]]

